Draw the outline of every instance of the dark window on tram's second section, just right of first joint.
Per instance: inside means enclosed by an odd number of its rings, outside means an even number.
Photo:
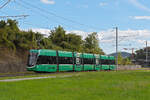
[[[73,64],[72,57],[58,57],[59,64]]]

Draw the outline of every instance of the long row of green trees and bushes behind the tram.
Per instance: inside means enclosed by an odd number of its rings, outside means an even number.
[[[48,37],[44,37],[39,32],[20,30],[15,20],[0,21],[0,47],[14,52],[29,49],[54,49],[104,54],[99,47],[97,37],[97,33],[93,32],[82,40],[80,35],[66,33],[61,26],[55,27]]]

